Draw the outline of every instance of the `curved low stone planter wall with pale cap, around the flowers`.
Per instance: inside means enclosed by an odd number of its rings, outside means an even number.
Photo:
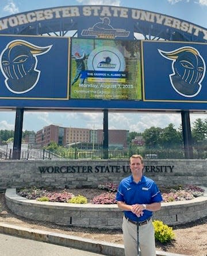
[[[6,190],[6,204],[9,209],[32,220],[49,221],[61,225],[79,227],[121,228],[123,213],[117,205],[68,204],[39,202],[20,197],[16,189]],[[162,203],[154,213],[154,219],[168,225],[189,223],[207,216],[207,189],[202,197],[189,201]]]

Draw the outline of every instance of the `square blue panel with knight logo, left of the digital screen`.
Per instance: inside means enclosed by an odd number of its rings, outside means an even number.
[[[0,100],[68,100],[68,38],[0,39]]]

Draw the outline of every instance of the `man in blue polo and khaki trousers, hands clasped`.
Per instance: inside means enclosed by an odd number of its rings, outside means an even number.
[[[155,232],[152,212],[160,210],[162,196],[154,180],[143,175],[143,157],[130,157],[132,175],[121,180],[117,205],[124,210],[122,231],[125,256],[155,256]]]

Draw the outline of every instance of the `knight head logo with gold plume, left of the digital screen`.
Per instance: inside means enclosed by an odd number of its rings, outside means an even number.
[[[37,55],[48,52],[52,46],[39,47],[24,40],[7,44],[0,55],[0,67],[5,85],[10,92],[25,93],[34,88],[40,78]]]

